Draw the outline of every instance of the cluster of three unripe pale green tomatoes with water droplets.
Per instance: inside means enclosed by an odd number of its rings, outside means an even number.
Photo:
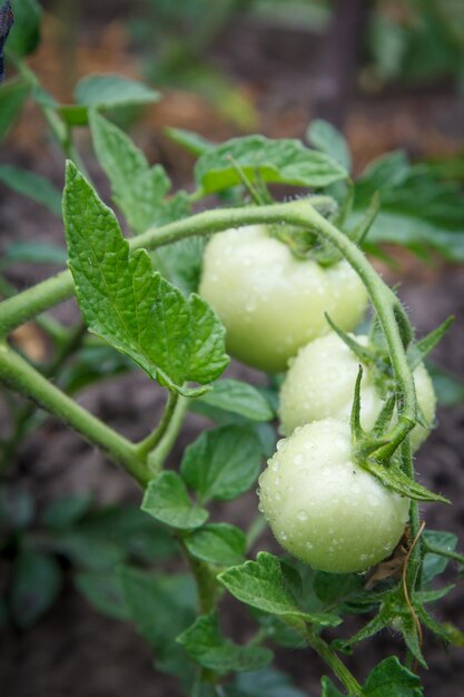
[[[287,436],[259,479],[259,509],[278,542],[316,569],[363,571],[392,553],[409,500],[385,488],[352,455],[349,413],[359,361],[333,331],[362,320],[367,294],[342,261],[323,267],[296,258],[265,226],[216,235],[204,259],[200,295],[227,330],[229,352],[248,365],[288,372],[279,415]],[[367,336],[353,337],[367,346]],[[413,450],[435,415],[435,394],[421,364],[414,372],[421,423]],[[364,366],[362,425],[372,429],[385,397]],[[393,419],[396,419],[396,414]]]

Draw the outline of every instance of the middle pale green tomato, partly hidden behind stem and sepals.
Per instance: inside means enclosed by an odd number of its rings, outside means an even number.
[[[353,337],[367,346],[368,337]],[[279,415],[286,435],[294,429],[312,421],[332,416],[347,421],[353,405],[359,360],[342,338],[330,332],[326,336],[300,348],[290,361],[288,373],[280,389]],[[427,424],[435,419],[436,397],[432,380],[421,364],[414,371],[417,401]],[[372,429],[383,406],[383,400],[374,385],[374,371],[364,366],[361,383],[361,424]],[[411,446],[415,452],[425,441],[430,428],[417,424],[411,433]]]

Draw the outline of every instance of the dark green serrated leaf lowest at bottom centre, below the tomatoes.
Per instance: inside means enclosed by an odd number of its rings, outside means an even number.
[[[177,641],[201,666],[219,674],[258,670],[273,660],[273,652],[260,646],[238,646],[219,631],[217,616],[203,615]]]

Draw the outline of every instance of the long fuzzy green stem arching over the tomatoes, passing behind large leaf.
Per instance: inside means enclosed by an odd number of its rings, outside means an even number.
[[[130,239],[129,246],[131,249],[140,247],[155,249],[187,237],[209,235],[226,228],[240,227],[253,223],[286,223],[316,230],[342,253],[366,286],[385,334],[397,384],[399,416],[397,424],[388,434],[392,444],[385,445],[376,453],[378,459],[387,460],[392,454],[393,448],[396,448],[406,438],[416,421],[414,381],[407,364],[403,341],[407,326],[404,323],[402,326],[398,326],[398,321],[404,318],[404,311],[391,288],[371,266],[363,252],[346,235],[319,215],[307,202],[299,200],[255,208],[207,210],[159,228],[149,229],[142,235]],[[31,316],[70,297],[72,293],[73,283],[71,275],[69,272],[62,272],[33,288],[29,288],[4,301],[0,304],[0,336],[6,335],[14,326],[18,326],[18,324]]]

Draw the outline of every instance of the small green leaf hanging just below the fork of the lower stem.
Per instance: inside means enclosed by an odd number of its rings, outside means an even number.
[[[192,530],[208,519],[208,511],[195,505],[176,472],[161,472],[147,487],[141,510],[172,528]]]

